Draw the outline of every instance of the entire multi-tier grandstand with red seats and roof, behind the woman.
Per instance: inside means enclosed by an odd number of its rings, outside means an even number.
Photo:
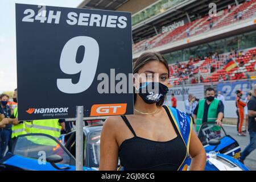
[[[216,16],[209,16],[209,3]],[[162,53],[174,68],[171,85],[255,75],[256,0],[85,0],[79,7],[132,12],[133,59]],[[231,50],[237,67],[226,70]]]

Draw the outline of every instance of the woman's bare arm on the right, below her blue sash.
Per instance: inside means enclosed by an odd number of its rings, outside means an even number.
[[[191,139],[189,143],[189,155],[191,156],[191,164],[189,171],[204,171],[207,162],[207,156],[195,131],[191,131]]]

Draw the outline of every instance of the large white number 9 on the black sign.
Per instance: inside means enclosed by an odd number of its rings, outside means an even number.
[[[85,47],[81,63],[76,62],[77,51]],[[60,55],[60,69],[67,75],[80,73],[79,81],[72,83],[72,78],[57,78],[57,88],[64,93],[74,94],[87,90],[92,85],[97,70],[100,49],[95,39],[88,36],[76,36],[68,40]]]

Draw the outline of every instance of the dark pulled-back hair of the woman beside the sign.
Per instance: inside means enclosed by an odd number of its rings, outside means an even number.
[[[141,56],[138,57],[136,61],[134,61],[133,64],[133,73],[138,73],[139,69],[141,69],[145,64],[149,63],[150,61],[159,61],[160,63],[163,63],[166,69],[168,70],[168,78],[170,77],[170,68],[168,65],[167,60],[160,55],[160,53],[157,52],[146,52],[143,53]],[[135,93],[135,88],[133,88],[133,98],[134,98],[134,104],[136,102],[137,94]],[[158,106],[162,106],[164,104],[164,100],[166,97],[162,98],[159,102],[156,103]]]

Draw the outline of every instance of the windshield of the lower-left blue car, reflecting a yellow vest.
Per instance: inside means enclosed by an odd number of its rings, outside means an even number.
[[[63,158],[60,164],[71,164],[71,157],[56,140],[46,135],[24,135],[16,139],[14,155],[26,158],[46,160],[48,156],[59,155]]]

